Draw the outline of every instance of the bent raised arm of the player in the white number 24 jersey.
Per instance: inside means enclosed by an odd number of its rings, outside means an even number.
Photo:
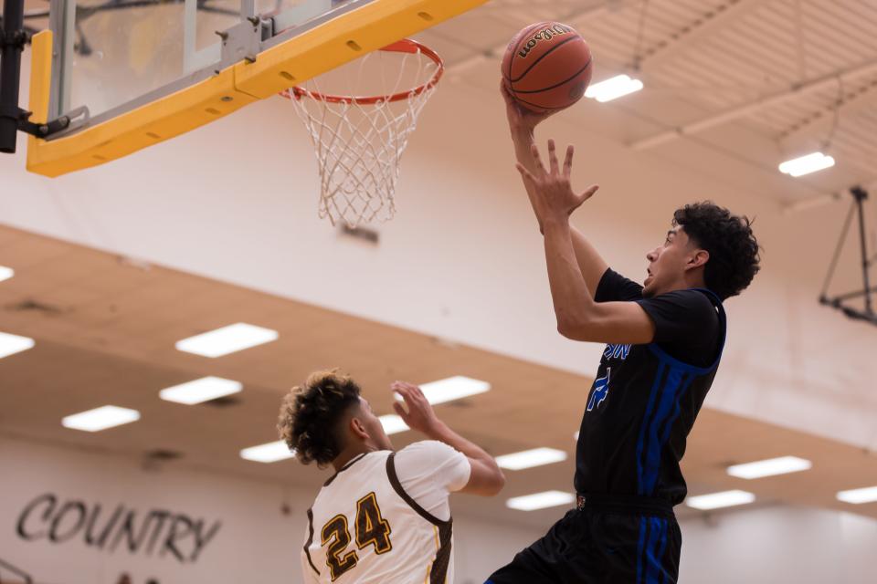
[[[492,496],[502,490],[502,486],[505,485],[505,475],[502,474],[493,457],[484,452],[481,446],[466,440],[451,430],[445,422],[439,420],[417,385],[396,381],[391,388],[405,401],[407,411],[398,402],[393,403],[393,409],[408,426],[425,433],[432,440],[456,448],[469,459],[471,468],[469,483],[460,489],[460,492]]]

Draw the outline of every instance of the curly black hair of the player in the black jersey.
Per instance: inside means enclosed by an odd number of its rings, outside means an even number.
[[[736,296],[749,286],[761,261],[752,221],[731,214],[711,201],[687,204],[673,214],[694,244],[710,254],[703,270],[706,287],[723,300]]]

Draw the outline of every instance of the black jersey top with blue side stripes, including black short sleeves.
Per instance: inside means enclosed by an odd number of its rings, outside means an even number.
[[[705,289],[643,298],[608,269],[597,302],[635,301],[655,323],[648,345],[608,345],[591,386],[576,446],[576,491],[682,503],[679,463],[724,348],[721,300]]]

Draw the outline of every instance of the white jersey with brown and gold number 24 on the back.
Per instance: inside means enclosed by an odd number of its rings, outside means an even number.
[[[466,457],[438,442],[357,456],[326,481],[308,511],[305,581],[450,584],[447,499],[469,474]]]

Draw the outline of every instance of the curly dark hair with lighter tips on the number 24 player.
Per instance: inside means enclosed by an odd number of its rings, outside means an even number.
[[[359,405],[359,394],[355,381],[334,370],[312,373],[283,398],[277,423],[280,438],[302,464],[330,464],[343,448],[338,423]]]

